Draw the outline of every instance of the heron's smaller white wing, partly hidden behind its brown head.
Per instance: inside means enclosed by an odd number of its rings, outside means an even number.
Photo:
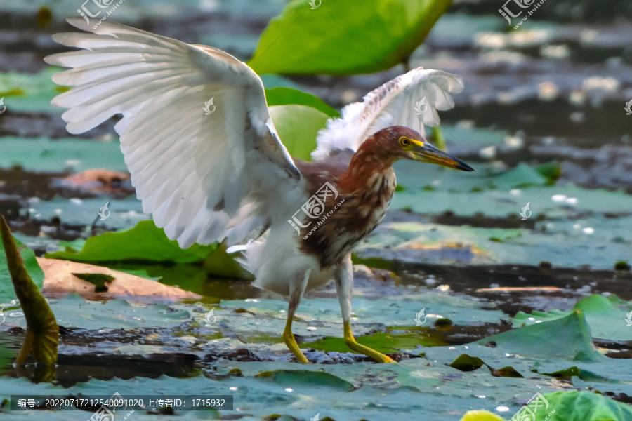
[[[355,151],[373,133],[390,126],[406,126],[425,135],[423,126],[437,126],[437,110],[454,107],[450,93],[461,91],[461,77],[440,70],[418,67],[397,76],[369,92],[362,102],[344,107],[340,119],[330,119],[318,132],[312,158],[325,159],[340,149]]]

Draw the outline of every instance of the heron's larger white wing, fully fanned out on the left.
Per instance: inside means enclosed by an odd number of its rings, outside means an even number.
[[[86,27],[79,17],[68,22]],[[68,108],[70,133],[123,114],[114,128],[132,185],[170,239],[183,248],[237,243],[306,199],[261,79],[243,62],[110,21],[87,30],[94,34],[53,36],[82,49],[45,59],[72,67],[53,76],[74,87],[52,103]]]

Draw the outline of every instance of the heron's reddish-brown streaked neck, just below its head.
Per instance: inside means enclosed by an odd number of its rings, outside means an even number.
[[[376,176],[392,175],[391,166],[397,158],[381,152],[375,136],[365,140],[351,157],[347,171],[341,175],[338,186],[346,192],[353,192],[367,187],[367,182],[376,180]]]

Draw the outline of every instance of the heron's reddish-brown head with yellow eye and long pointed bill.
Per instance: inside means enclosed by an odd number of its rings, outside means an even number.
[[[421,133],[403,126],[392,126],[374,134],[376,146],[387,161],[413,159],[436,163],[461,171],[474,171],[467,163],[431,145]]]

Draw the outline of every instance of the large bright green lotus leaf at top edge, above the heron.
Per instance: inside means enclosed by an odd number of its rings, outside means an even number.
[[[357,74],[390,69],[423,42],[450,0],[291,1],[249,65],[258,73]],[[291,53],[289,53],[291,52]]]

